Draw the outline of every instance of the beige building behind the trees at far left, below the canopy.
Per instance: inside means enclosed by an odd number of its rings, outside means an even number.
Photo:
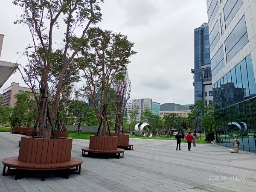
[[[36,90],[38,93],[40,92],[39,89]],[[19,83],[12,82],[10,87],[7,87],[5,90],[3,90],[2,96],[3,96],[3,103],[2,106],[9,106],[13,108],[15,106],[15,94],[17,93],[24,93],[24,92],[31,92],[31,89],[28,87],[20,87]]]

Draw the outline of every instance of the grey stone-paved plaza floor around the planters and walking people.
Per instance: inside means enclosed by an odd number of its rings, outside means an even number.
[[[0,160],[18,156],[20,135],[0,132]],[[181,143],[176,151],[175,140],[130,138],[134,150],[124,158],[103,159],[81,156],[81,147],[89,140],[73,140],[72,156],[84,163],[80,175],[69,179],[40,177],[15,180],[0,175],[0,192],[255,192],[256,154],[213,144],[197,144],[188,151]],[[0,173],[3,164],[0,163]]]

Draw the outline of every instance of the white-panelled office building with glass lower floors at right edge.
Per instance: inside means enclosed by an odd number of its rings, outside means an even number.
[[[207,0],[217,142],[256,153],[256,0]]]

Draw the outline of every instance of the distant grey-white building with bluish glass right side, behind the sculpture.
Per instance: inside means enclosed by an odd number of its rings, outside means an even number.
[[[136,117],[136,120],[138,122],[140,122],[143,119],[143,113],[147,108],[150,109],[153,115],[159,115],[159,111],[160,111],[160,103],[153,102],[153,100],[149,98],[133,99],[132,102],[128,103],[126,106],[127,106],[127,119],[130,119],[129,111],[134,110],[134,108],[137,108],[138,115]]]

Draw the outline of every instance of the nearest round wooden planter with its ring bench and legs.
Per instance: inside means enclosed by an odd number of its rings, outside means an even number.
[[[2,160],[3,175],[8,170],[14,168],[15,180],[18,179],[20,170],[41,171],[42,181],[44,181],[44,171],[66,170],[65,178],[69,177],[70,168],[76,167],[81,171],[81,164],[84,162],[77,157],[71,157],[72,139],[41,139],[38,137],[21,137],[20,151],[18,157],[7,157]]]

